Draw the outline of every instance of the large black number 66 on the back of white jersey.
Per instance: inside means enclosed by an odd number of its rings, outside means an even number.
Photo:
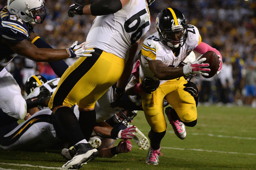
[[[144,15],[145,13],[147,13],[147,11],[146,11],[146,9],[143,9],[140,12],[133,15],[131,18],[129,18],[124,23],[124,29],[127,33],[131,33],[133,31],[137,30],[135,33],[132,33],[132,36],[131,36],[132,44],[135,44],[135,42],[140,39],[140,37],[143,33],[143,28],[146,28],[147,26],[149,26],[149,21],[147,21],[146,23],[144,23],[143,25],[140,26],[140,21],[141,21],[140,16]],[[136,21],[136,24],[132,27],[129,27],[135,21]]]

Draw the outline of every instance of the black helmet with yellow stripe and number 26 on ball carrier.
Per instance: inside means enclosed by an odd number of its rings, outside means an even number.
[[[175,8],[165,8],[158,13],[155,27],[160,41],[172,49],[182,47],[188,37],[186,19]]]

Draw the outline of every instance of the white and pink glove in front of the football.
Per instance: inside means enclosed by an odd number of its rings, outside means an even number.
[[[186,64],[183,66],[183,73],[185,76],[188,76],[189,74],[202,74],[204,76],[209,76],[208,73],[202,72],[202,71],[211,71],[210,69],[205,69],[205,68],[201,68],[201,67],[207,67],[209,66],[208,63],[206,64],[201,64],[202,62],[204,62],[206,60],[206,58],[201,58],[200,60],[198,60],[200,57],[198,57],[196,59],[196,61],[194,61],[191,64]]]

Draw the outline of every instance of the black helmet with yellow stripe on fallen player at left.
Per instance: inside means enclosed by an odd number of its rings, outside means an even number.
[[[28,78],[25,83],[25,92],[27,94],[31,93],[36,87],[43,85],[47,82],[46,78],[41,75],[33,75]]]

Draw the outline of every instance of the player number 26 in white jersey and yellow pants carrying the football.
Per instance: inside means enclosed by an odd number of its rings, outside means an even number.
[[[180,63],[194,50],[200,54],[214,51],[220,52],[201,41],[196,26],[187,25],[184,15],[175,8],[162,10],[156,18],[156,32],[148,36],[141,47],[139,77],[143,81],[159,81],[155,91],[141,92],[142,107],[148,124],[151,127],[148,137],[150,148],[147,164],[157,165],[161,147],[160,143],[166,132],[164,118],[164,98],[177,112],[168,108],[166,114],[169,121],[180,120],[186,126],[193,127],[197,122],[197,110],[194,96],[184,90],[188,82],[183,76],[190,74],[208,75],[210,69],[204,68],[206,58],[179,67]],[[219,71],[222,67],[220,62]],[[174,116],[175,115],[175,116]]]

